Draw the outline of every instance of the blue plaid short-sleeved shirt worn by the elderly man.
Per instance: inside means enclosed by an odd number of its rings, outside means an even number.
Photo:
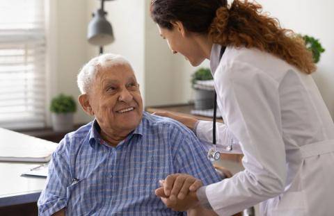
[[[220,181],[200,141],[180,123],[143,113],[117,147],[100,137],[97,122],[68,133],[53,153],[39,215],[186,215],[154,194],[168,174],[186,173],[205,185]]]

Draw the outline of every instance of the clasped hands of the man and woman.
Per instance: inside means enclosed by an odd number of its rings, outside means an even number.
[[[188,174],[171,174],[160,182],[161,188],[155,190],[168,208],[176,211],[185,211],[199,205],[196,190],[202,182]]]

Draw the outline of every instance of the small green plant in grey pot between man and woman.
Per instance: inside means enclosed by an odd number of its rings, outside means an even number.
[[[213,80],[209,68],[200,68],[191,76],[192,88],[195,92],[194,103],[196,110],[205,110],[213,107],[214,104],[214,86],[201,85],[198,81]]]

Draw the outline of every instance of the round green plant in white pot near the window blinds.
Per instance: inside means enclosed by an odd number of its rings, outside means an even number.
[[[58,94],[50,104],[51,122],[54,131],[70,131],[73,129],[73,114],[77,104],[72,96]]]

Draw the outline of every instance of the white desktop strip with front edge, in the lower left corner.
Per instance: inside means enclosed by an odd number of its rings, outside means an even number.
[[[0,162],[0,207],[31,203],[38,200],[46,178],[21,176],[40,163]]]

